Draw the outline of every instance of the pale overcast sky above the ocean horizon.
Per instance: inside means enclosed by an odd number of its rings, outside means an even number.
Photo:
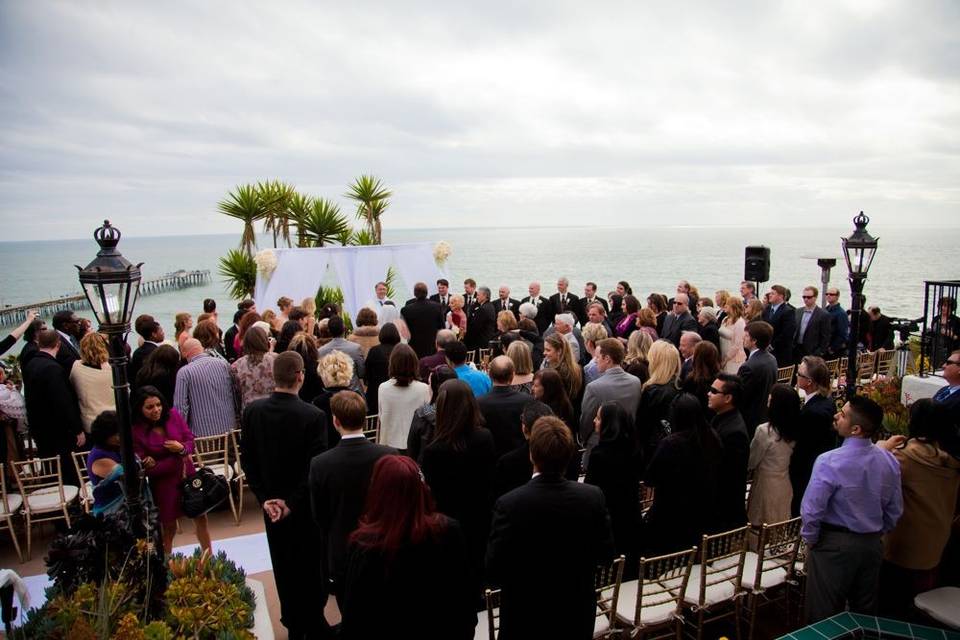
[[[960,3],[0,0],[0,240],[239,233],[281,179],[386,227],[960,227]]]

